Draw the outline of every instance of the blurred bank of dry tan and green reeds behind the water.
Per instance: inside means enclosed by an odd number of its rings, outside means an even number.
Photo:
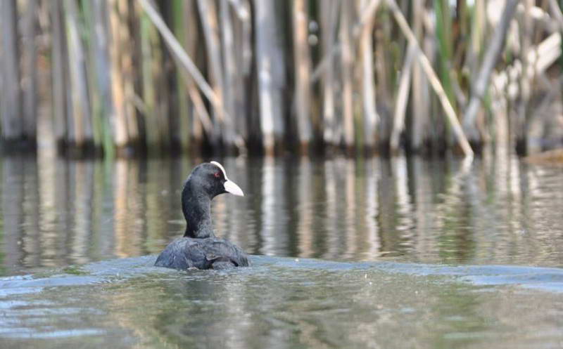
[[[7,151],[558,147],[557,0],[2,0]]]

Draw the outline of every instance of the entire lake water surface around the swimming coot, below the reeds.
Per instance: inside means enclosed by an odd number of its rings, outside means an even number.
[[[0,348],[563,348],[563,166],[218,160],[251,268],[151,266],[202,159],[0,159]]]

